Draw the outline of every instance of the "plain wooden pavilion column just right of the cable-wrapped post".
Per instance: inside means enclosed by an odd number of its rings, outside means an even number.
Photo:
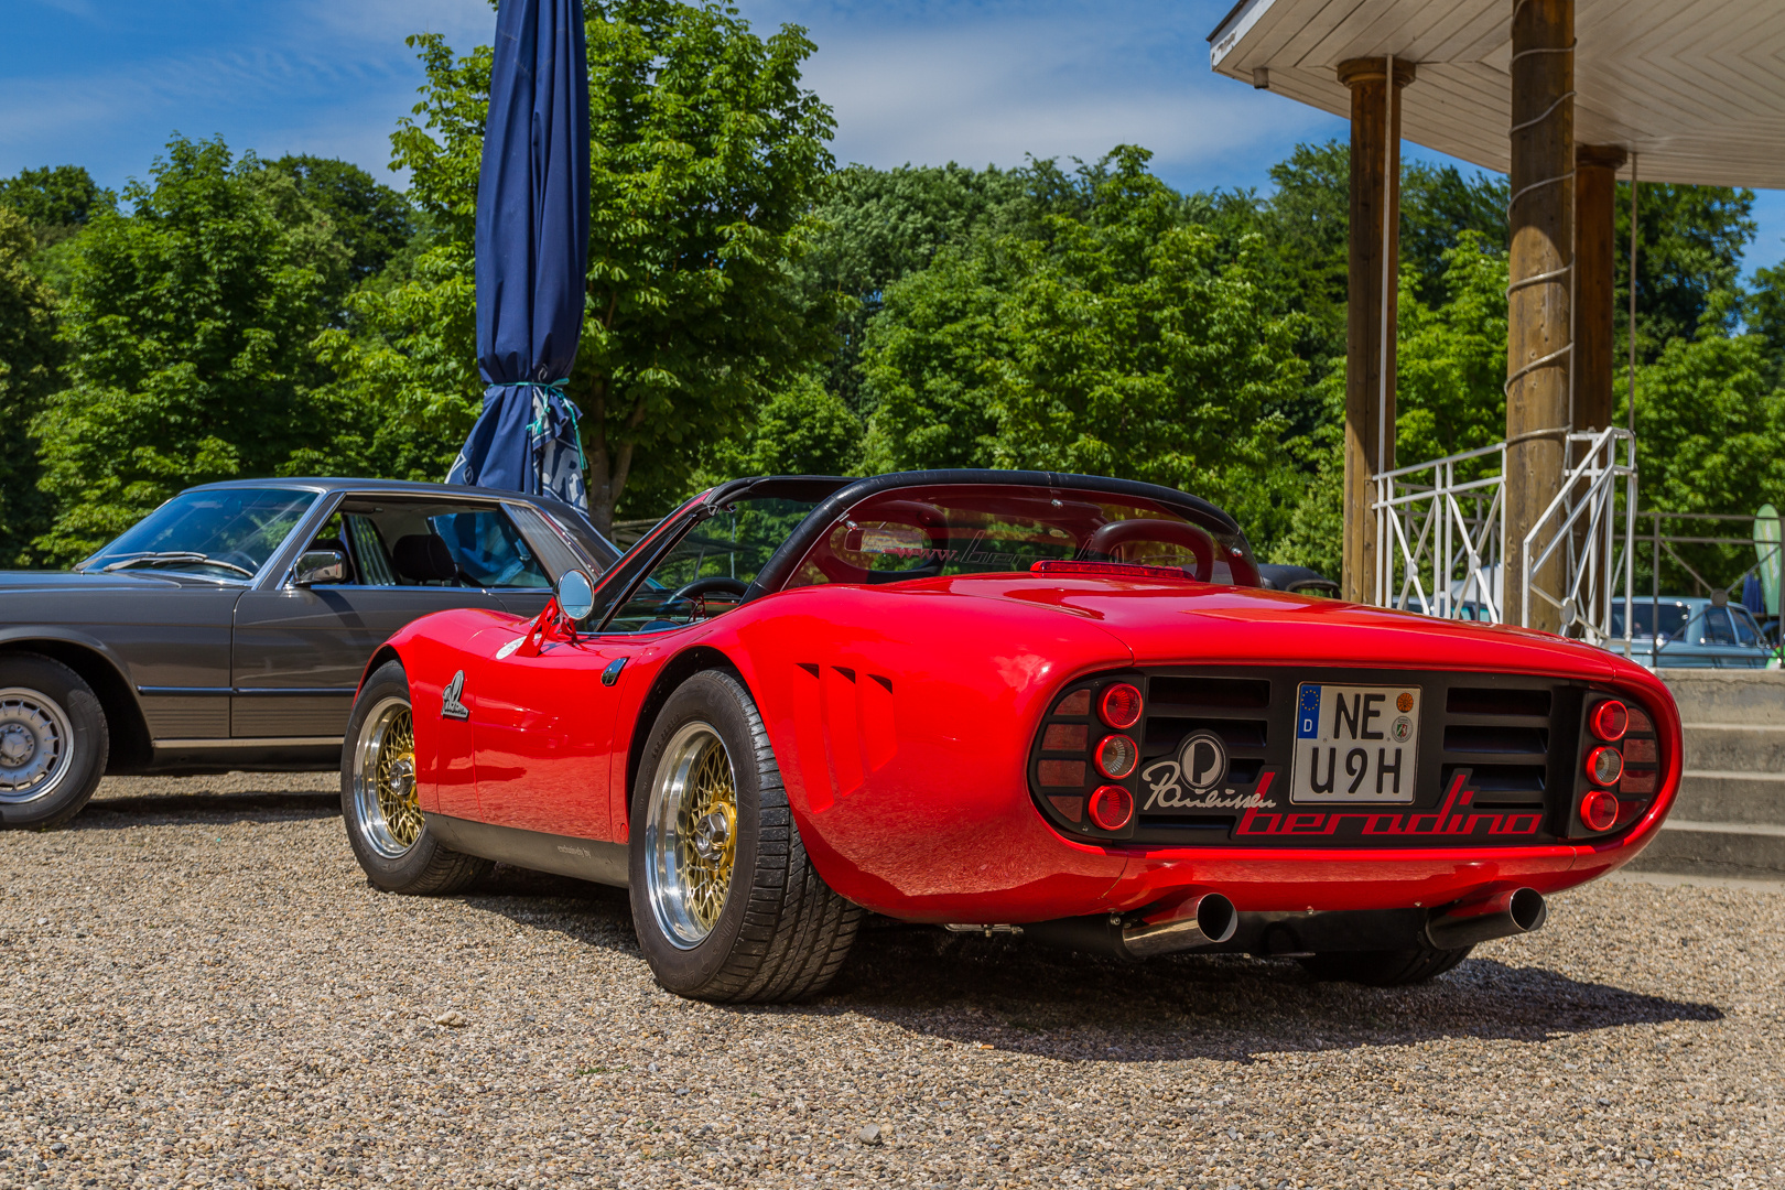
[[[1617,145],[1574,146],[1574,428],[1612,425],[1617,307]]]

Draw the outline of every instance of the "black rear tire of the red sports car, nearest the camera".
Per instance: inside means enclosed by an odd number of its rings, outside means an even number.
[[[678,751],[669,753],[671,742],[689,739],[694,744],[678,742]],[[710,758],[712,739],[723,744],[719,762],[730,767],[732,851],[728,876],[716,894],[723,901],[700,926],[703,937],[691,938],[673,933],[666,919],[671,910],[660,912],[653,892],[673,883],[653,880],[653,856],[685,853],[673,844],[657,849],[662,831],[652,826],[652,803],[664,765],[680,764],[677,756],[685,748],[705,748],[700,755]],[[687,783],[693,785],[693,778]],[[669,992],[716,1003],[785,1003],[819,992],[843,967],[862,910],[832,892],[812,867],[787,808],[762,715],[750,690],[732,674],[698,673],[664,703],[639,764],[630,839],[632,921],[639,949],[657,983]],[[707,885],[709,894],[718,883]],[[709,896],[705,905],[710,915],[714,899]]]

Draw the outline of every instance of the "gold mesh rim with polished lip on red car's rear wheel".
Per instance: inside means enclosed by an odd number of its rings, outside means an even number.
[[[644,885],[659,930],[691,951],[725,910],[737,862],[737,773],[710,723],[669,737],[644,812]]]

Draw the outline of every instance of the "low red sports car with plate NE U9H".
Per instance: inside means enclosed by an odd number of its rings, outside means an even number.
[[[778,1001],[864,912],[1426,979],[1628,862],[1678,781],[1617,657],[1266,591],[1166,487],[919,471],[725,483],[536,619],[416,621],[341,799],[384,888],[623,885],[664,987]]]

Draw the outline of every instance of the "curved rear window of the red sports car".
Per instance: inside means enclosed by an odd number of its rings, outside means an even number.
[[[1130,562],[1210,583],[1258,585],[1239,533],[1137,498],[989,483],[901,487],[850,508],[789,587],[1026,571],[1035,562]]]

